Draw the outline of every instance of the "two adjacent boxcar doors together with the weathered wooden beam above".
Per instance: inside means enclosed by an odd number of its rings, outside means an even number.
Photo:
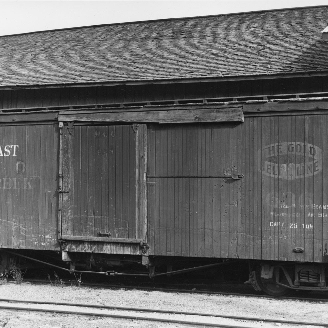
[[[232,175],[244,117],[221,106],[60,112],[61,238],[142,240],[149,255],[236,256]]]

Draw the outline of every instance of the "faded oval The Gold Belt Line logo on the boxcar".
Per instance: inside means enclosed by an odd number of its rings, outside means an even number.
[[[279,142],[257,151],[258,170],[267,176],[293,180],[322,171],[322,150],[306,142]]]

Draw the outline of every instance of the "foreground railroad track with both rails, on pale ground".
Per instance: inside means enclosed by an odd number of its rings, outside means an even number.
[[[10,303],[10,304],[9,304]],[[16,305],[16,304],[33,304],[31,305]],[[57,308],[44,308],[41,305],[51,305]],[[61,307],[61,308],[60,308]],[[63,308],[64,307],[64,308]],[[72,308],[81,308],[83,310],[74,310]],[[241,325],[234,324],[222,324],[220,322],[207,322],[200,321],[199,318],[213,318],[219,319],[234,319],[248,322],[266,322],[266,323],[280,323],[280,324],[289,324],[296,326],[316,326],[316,327],[328,327],[328,323],[314,323],[314,322],[304,322],[304,321],[293,321],[293,320],[281,320],[281,319],[271,319],[271,318],[256,318],[256,317],[244,317],[244,316],[229,316],[223,314],[209,314],[209,313],[198,313],[198,312],[185,312],[185,311],[170,311],[170,310],[161,310],[161,309],[148,309],[148,308],[135,308],[135,307],[121,307],[121,306],[108,306],[102,304],[81,304],[81,303],[68,303],[68,302],[46,302],[46,301],[32,301],[32,300],[17,300],[17,299],[8,299],[0,298],[0,309],[7,310],[18,310],[18,311],[29,311],[29,312],[44,312],[44,313],[60,313],[60,314],[72,314],[72,315],[82,315],[82,316],[96,316],[96,317],[107,317],[107,318],[120,318],[120,319],[133,319],[133,320],[147,320],[147,321],[157,321],[157,322],[167,322],[167,323],[179,323],[185,325],[195,325],[202,327],[227,327],[227,328],[246,328]],[[86,309],[97,309],[98,311],[86,311]],[[99,310],[112,310],[115,313],[104,313]],[[122,315],[121,311],[134,312],[131,315]],[[136,313],[154,313],[157,316],[145,316]],[[183,319],[177,318],[160,318],[158,314],[164,315],[175,315],[175,316],[184,316]],[[196,320],[195,320],[196,317]],[[194,320],[190,320],[194,318]],[[247,326],[249,328],[249,326]]]

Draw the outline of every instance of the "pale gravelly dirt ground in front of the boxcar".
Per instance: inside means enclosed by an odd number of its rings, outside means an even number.
[[[7,282],[0,285],[0,298],[20,300],[43,300],[83,304],[132,306],[137,308],[165,309],[174,311],[196,311],[201,313],[238,315],[257,318],[288,319],[306,322],[328,323],[328,304],[312,303],[299,300],[273,300],[260,297],[237,297],[205,294],[166,293],[158,291],[110,290],[83,286],[35,285],[23,283],[16,285]],[[0,302],[0,305],[12,305]],[[21,304],[22,306],[42,306],[45,309],[60,309],[61,306]],[[73,310],[92,313],[111,313],[134,315],[148,318],[174,318],[195,322],[230,324],[241,327],[289,327],[262,321],[245,321],[214,317],[196,317],[185,315],[165,315],[160,313],[126,312],[101,310],[98,308],[73,308]],[[0,327],[6,328],[155,328],[155,327],[191,327],[179,323],[144,321],[141,319],[118,319],[89,317],[83,315],[42,313],[0,309]],[[295,327],[295,326],[294,326]],[[311,326],[298,326],[311,327]]]

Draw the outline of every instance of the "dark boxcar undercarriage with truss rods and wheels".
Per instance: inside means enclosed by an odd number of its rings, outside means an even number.
[[[102,275],[108,276],[109,279],[116,276],[148,277],[156,282],[159,277],[163,276],[174,279],[176,275],[190,275],[198,272],[197,277],[199,278],[212,277],[212,282],[222,283],[225,282],[224,279],[231,281],[231,276],[236,273],[236,270],[239,271],[238,274],[241,277],[245,276],[246,266],[248,266],[249,280],[244,283],[251,284],[256,291],[262,291],[268,295],[283,296],[292,290],[328,291],[328,271],[324,264],[236,259],[181,259],[143,255],[119,256],[65,251],[61,252],[64,262],[61,264],[58,253],[49,255],[48,253],[34,252],[30,254],[30,252],[20,252],[19,250],[3,250],[0,253],[0,272],[9,273],[13,269],[31,269],[41,263],[55,269],[68,271],[70,274]],[[218,274],[218,269],[223,269],[225,274],[222,277]]]

